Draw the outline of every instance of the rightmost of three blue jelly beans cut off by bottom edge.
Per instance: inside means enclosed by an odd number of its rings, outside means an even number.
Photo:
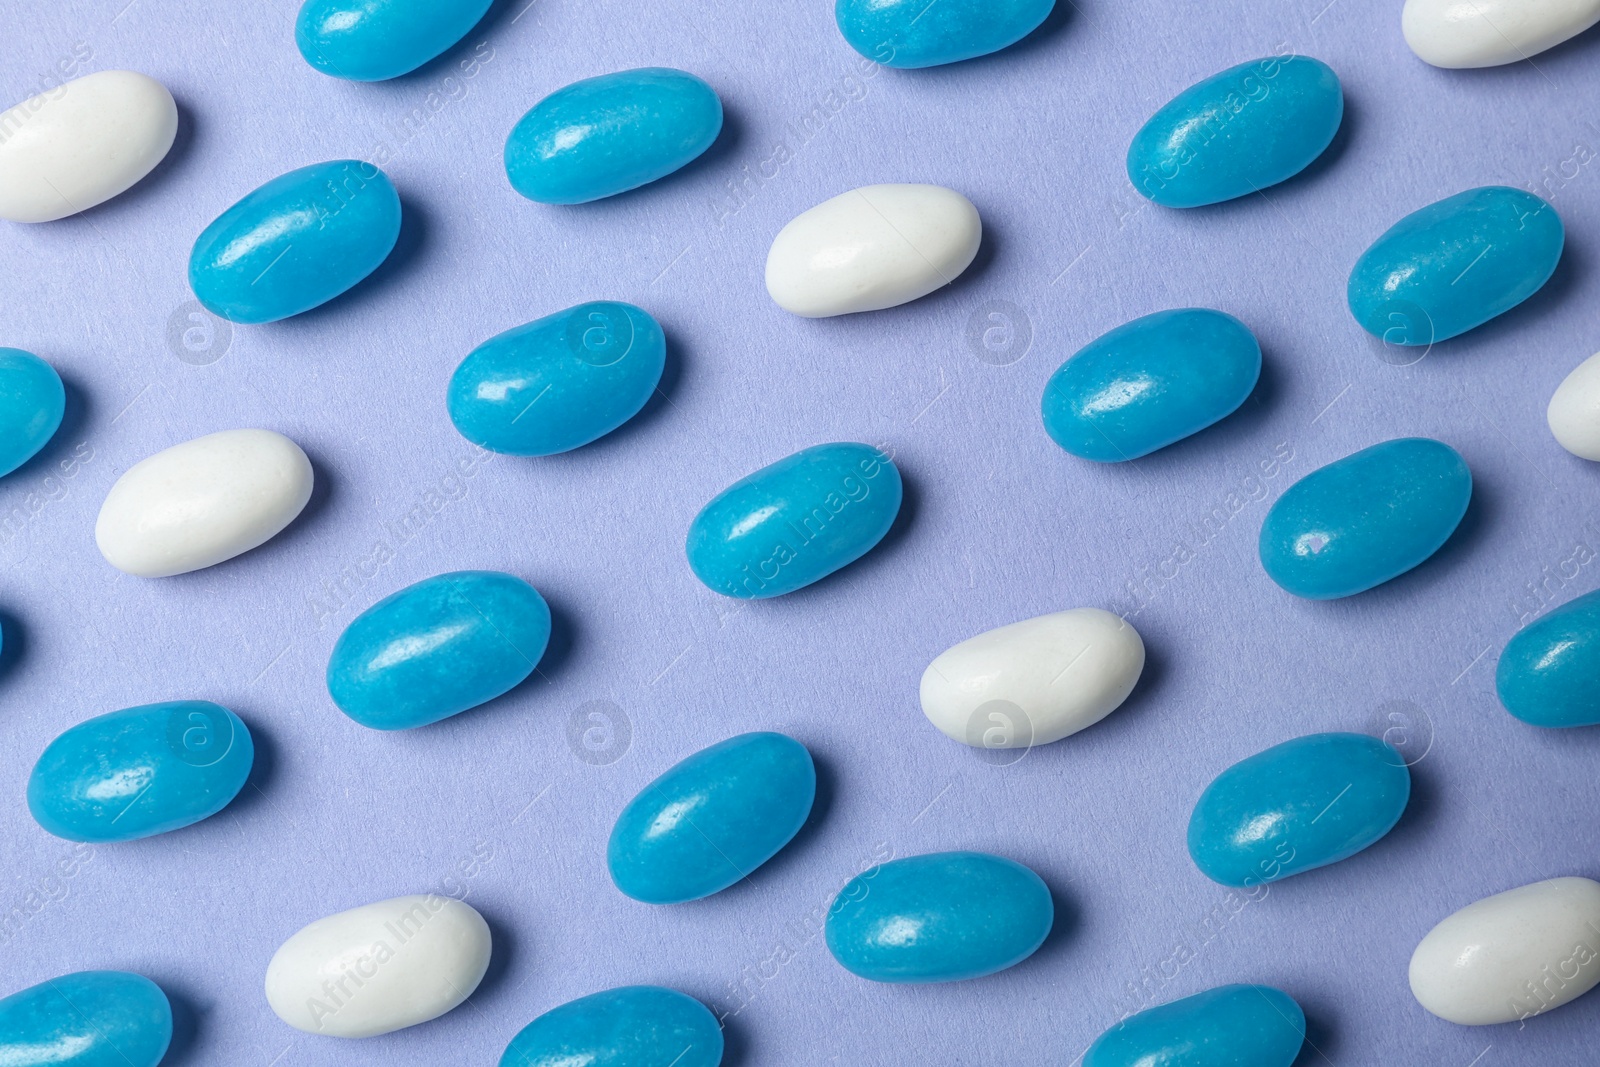
[[[1099,1035],[1083,1067],[1290,1067],[1306,1013],[1270,985],[1218,985],[1141,1011]]]

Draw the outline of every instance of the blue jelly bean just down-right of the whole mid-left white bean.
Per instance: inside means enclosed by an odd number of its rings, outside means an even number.
[[[435,574],[350,621],[328,657],[328,694],[373,729],[411,729],[515,688],[550,643],[550,608],[501,571]]]

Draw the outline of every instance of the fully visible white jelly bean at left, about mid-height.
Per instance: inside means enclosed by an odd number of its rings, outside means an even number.
[[[272,430],[222,430],[141,459],[101,504],[94,542],[138,577],[198,571],[266,544],[310,501],[310,461]]]

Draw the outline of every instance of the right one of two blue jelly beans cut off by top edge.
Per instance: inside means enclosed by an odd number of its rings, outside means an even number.
[[[1032,34],[1056,0],[838,0],[850,46],[885,67],[938,67],[1000,51]]]

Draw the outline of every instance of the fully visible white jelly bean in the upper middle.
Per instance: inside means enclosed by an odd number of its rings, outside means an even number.
[[[862,186],[778,230],[766,291],[805,318],[896,307],[955,282],[982,235],[978,208],[954,189]]]

